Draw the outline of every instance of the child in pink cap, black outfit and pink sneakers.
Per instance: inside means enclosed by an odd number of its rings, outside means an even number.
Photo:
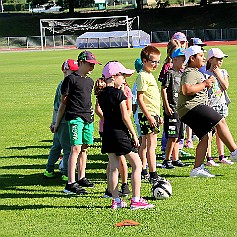
[[[128,114],[127,97],[122,90],[118,89],[125,83],[124,76],[131,76],[133,72],[119,62],[107,63],[102,72],[106,88],[98,96],[98,102],[104,116],[102,153],[108,153],[109,157],[109,186],[113,196],[112,209],[127,206],[126,202],[119,198],[118,192],[119,157],[121,155],[124,155],[132,166],[133,197],[130,208],[134,210],[153,207],[140,197],[141,160],[135,152],[135,147],[138,147],[139,142]]]

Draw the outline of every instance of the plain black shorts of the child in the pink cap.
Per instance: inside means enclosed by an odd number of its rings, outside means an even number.
[[[102,149],[104,153],[115,153],[116,156],[126,155],[130,152],[136,152],[134,142],[129,132],[123,130],[104,128],[102,135]]]

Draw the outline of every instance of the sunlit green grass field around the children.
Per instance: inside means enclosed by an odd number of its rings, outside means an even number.
[[[236,46],[220,48],[229,55],[223,66],[230,74],[228,93],[232,100],[227,121],[237,141],[237,50]],[[93,50],[103,64],[116,59],[128,68],[133,68],[139,51]],[[161,52],[164,60],[165,48]],[[158,169],[161,176],[171,180],[171,198],[154,200],[150,184],[143,182],[142,196],[155,208],[112,211],[111,200],[102,198],[107,157],[100,153],[98,117],[95,117],[95,144],[89,149],[87,165],[87,177],[96,187],[88,190],[86,196],[67,196],[62,193],[65,183],[59,177],[43,179],[52,144],[49,125],[54,93],[63,76],[60,67],[65,59],[76,59],[78,53],[78,50],[0,53],[0,236],[237,236],[237,164],[211,167],[216,174],[213,179],[191,179],[189,172],[194,159],[183,159],[189,167]],[[101,71],[102,66],[96,66],[92,78],[98,78]],[[128,79],[129,84],[134,80],[135,75]],[[194,155],[194,149],[191,153]],[[213,154],[217,155],[215,146]],[[114,227],[125,219],[138,221],[140,225]]]

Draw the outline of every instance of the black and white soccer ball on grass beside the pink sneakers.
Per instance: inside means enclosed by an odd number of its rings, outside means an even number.
[[[172,186],[167,180],[159,180],[152,186],[152,195],[155,199],[164,200],[172,195]]]

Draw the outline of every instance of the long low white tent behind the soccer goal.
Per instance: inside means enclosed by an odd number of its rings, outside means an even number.
[[[86,32],[76,40],[78,49],[144,47],[149,44],[150,35],[142,30],[131,30],[129,36],[127,31]]]

